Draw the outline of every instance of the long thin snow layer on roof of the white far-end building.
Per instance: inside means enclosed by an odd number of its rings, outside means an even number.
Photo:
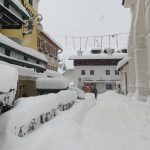
[[[84,54],[82,56],[74,55],[70,56],[70,60],[84,60],[84,59],[123,59],[127,56],[126,53],[113,53],[112,55],[108,54]]]

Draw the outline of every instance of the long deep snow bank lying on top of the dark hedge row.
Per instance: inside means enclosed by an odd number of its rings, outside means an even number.
[[[61,91],[58,94],[47,94],[36,97],[20,98],[9,112],[1,116],[0,132],[9,129],[8,132],[16,134],[16,128],[28,126],[32,119],[55,110],[59,105],[65,105],[77,100],[74,91]],[[18,133],[18,132],[17,132]]]

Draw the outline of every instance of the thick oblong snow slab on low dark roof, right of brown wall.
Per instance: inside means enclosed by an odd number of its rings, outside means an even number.
[[[37,89],[66,89],[69,81],[66,78],[38,78],[36,80]]]

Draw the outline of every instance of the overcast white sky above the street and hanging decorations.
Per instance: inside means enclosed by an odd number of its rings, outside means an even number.
[[[122,0],[40,0],[39,13],[43,15],[44,30],[64,47],[63,57],[80,48],[79,40],[72,39],[66,46],[65,38],[57,36],[93,36],[129,32],[130,10],[124,8]],[[114,41],[111,41],[114,45]],[[104,42],[108,47],[108,38]],[[119,37],[120,47],[127,45],[127,36]],[[85,41],[82,40],[84,50]],[[94,47],[92,39],[88,47]]]

